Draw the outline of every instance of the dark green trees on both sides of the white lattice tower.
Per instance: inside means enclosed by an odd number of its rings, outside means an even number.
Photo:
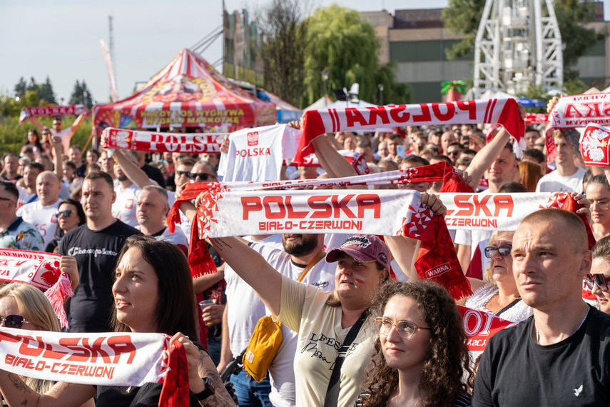
[[[466,38],[447,51],[449,59],[474,54],[474,38],[477,36],[479,22],[483,14],[485,0],[449,0],[449,6],[442,11],[445,26],[455,34]],[[596,41],[604,34],[596,34],[584,24],[594,16],[594,4],[589,0],[556,0],[554,10],[564,44],[564,76],[574,78],[577,72],[573,67]],[[546,8],[543,12],[546,12]]]

